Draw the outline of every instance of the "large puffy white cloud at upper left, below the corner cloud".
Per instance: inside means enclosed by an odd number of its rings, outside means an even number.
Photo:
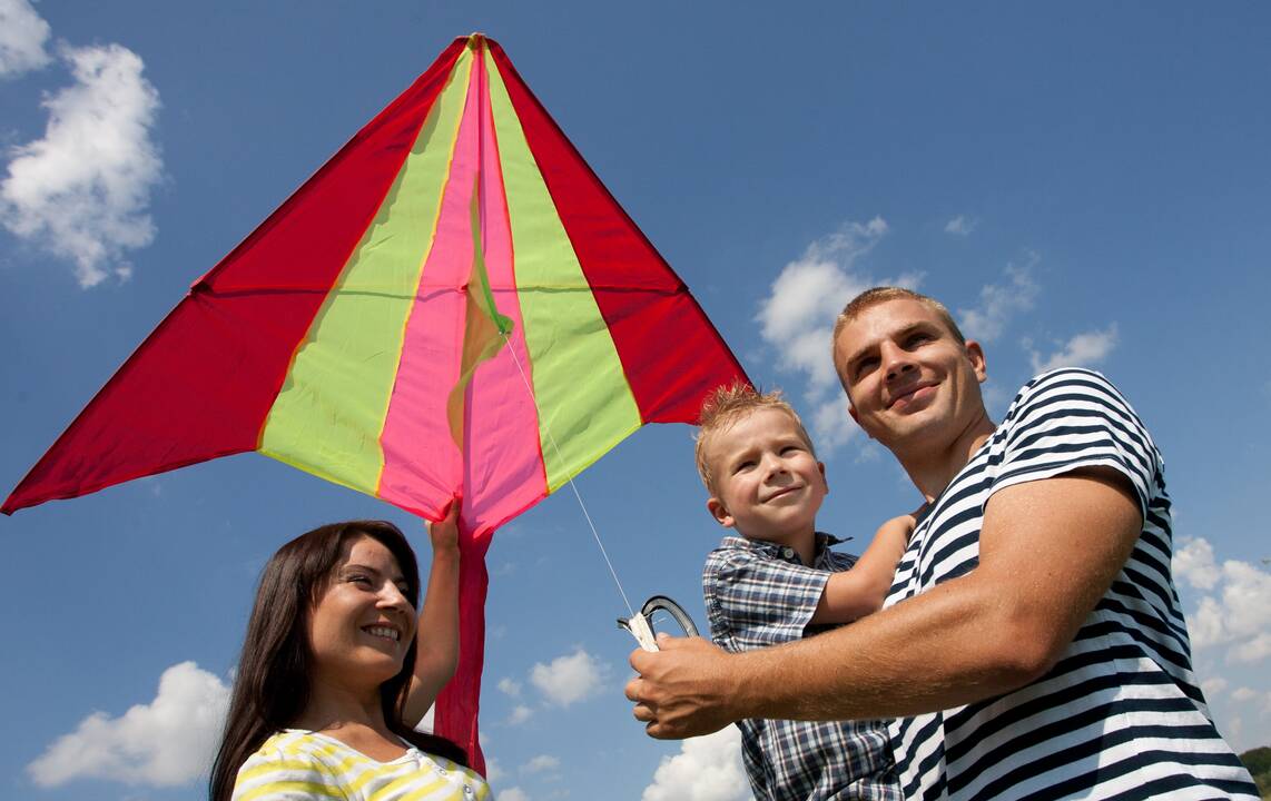
[[[13,150],[0,182],[0,222],[70,259],[80,286],[132,268],[123,253],[155,229],[145,212],[163,161],[150,139],[159,92],[141,58],[119,44],[64,47],[75,84],[46,97],[44,137]]]

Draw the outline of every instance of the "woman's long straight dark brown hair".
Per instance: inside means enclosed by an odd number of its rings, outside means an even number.
[[[379,542],[397,559],[407,582],[407,600],[419,608],[419,567],[400,530],[383,520],[333,523],[301,534],[273,554],[261,573],[255,605],[247,624],[243,655],[230,697],[221,748],[208,781],[211,801],[229,801],[238,770],[273,734],[292,725],[309,706],[309,612],[327,589],[344,543],[358,537]],[[402,670],[380,685],[384,721],[416,748],[468,764],[461,748],[402,722],[418,638],[411,643]]]

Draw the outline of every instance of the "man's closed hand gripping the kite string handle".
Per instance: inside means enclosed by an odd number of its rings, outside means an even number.
[[[702,637],[657,636],[652,652],[637,648],[630,665],[639,675],[627,683],[636,720],[648,736],[683,740],[719,731],[744,716],[736,708],[737,659]]]

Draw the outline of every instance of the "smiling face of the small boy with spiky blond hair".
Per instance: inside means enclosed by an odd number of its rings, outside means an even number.
[[[825,465],[789,414],[758,409],[716,432],[707,454],[716,484],[707,509],[719,525],[783,544],[812,534],[829,492]]]

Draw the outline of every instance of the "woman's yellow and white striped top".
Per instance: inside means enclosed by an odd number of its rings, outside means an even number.
[[[239,768],[234,801],[488,801],[489,784],[449,759],[408,746],[376,762],[334,737],[280,731]]]

